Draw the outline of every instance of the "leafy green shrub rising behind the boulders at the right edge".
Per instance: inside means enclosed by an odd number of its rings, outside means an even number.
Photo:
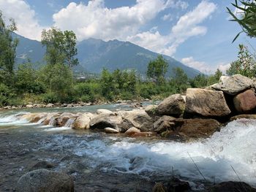
[[[227,74],[242,74],[246,77],[256,77],[256,61],[244,45],[239,45],[238,60],[233,61]]]

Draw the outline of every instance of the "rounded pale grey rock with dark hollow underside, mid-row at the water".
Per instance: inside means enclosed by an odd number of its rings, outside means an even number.
[[[110,114],[100,114],[91,118],[90,128],[91,129],[104,129],[106,127],[115,128],[119,131],[119,125],[122,123],[121,115],[116,112]]]

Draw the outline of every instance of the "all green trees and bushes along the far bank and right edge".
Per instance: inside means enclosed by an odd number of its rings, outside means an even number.
[[[102,69],[98,76],[78,79],[72,70],[79,63],[75,58],[78,53],[76,36],[73,31],[61,31],[59,28],[42,31],[42,46],[46,52],[41,69],[35,69],[29,59],[23,64],[15,64],[18,39],[12,34],[17,28],[13,20],[7,26],[3,18],[0,12],[0,107],[28,103],[162,99],[173,93],[184,93],[187,88],[205,88],[218,82],[222,76],[217,69],[211,75],[201,73],[189,78],[182,69],[173,68],[173,76],[169,77],[168,64],[159,55],[148,63],[145,77],[136,71],[116,69],[110,72]],[[250,20],[249,17],[238,23],[248,28]],[[247,29],[250,37],[254,37],[253,30]],[[256,74],[255,55],[249,53],[244,45],[239,45],[238,60],[227,70],[229,75],[236,73],[251,78]]]

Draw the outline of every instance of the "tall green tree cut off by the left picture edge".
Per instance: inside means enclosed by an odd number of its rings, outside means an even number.
[[[10,19],[10,25],[4,22],[0,11],[0,82],[12,85],[13,69],[16,57],[18,39],[12,38],[12,33],[17,30],[14,20]]]

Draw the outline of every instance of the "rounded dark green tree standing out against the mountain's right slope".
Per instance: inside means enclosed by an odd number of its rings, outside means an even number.
[[[157,84],[165,82],[165,74],[167,72],[167,61],[162,55],[158,55],[154,61],[148,63],[147,77],[153,79]]]

